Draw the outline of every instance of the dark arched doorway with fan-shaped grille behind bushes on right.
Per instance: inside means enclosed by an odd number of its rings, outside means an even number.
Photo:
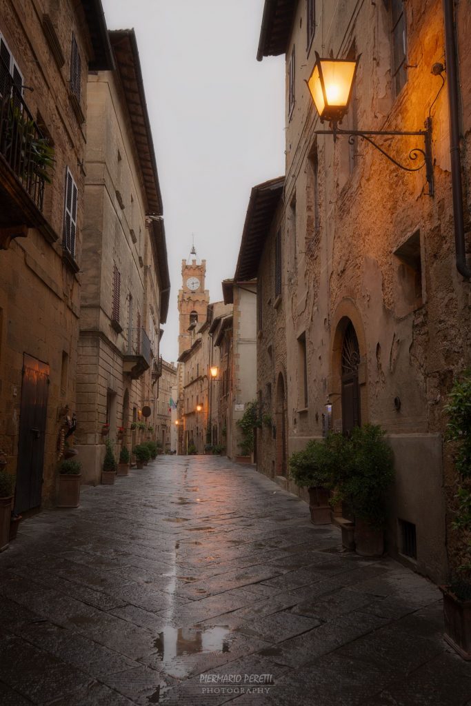
[[[357,333],[348,321],[342,341],[342,431],[350,433],[354,426],[362,423],[360,417],[360,395],[358,369],[360,350]]]

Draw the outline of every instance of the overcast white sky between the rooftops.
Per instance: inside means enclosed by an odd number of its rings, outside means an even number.
[[[102,1],[109,29],[136,30],[172,283],[161,352],[175,361],[191,234],[218,301],[251,187],[285,172],[284,57],[256,61],[263,0]]]

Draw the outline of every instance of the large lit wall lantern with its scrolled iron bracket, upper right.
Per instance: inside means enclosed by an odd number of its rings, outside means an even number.
[[[321,59],[321,56],[316,52],[316,63],[312,70],[309,80],[306,81],[307,88],[311,94],[314,106],[321,119],[321,123],[328,121],[330,130],[315,130],[316,135],[333,135],[334,142],[340,135],[348,135],[350,145],[354,144],[354,138],[359,137],[373,145],[373,147],[381,152],[382,155],[388,158],[390,162],[403,169],[405,172],[418,172],[419,169],[425,167],[426,179],[429,184],[429,196],[434,196],[434,164],[431,155],[431,114],[425,120],[424,130],[400,131],[400,130],[343,130],[338,127],[342,119],[347,114],[350,100],[352,99],[352,88],[361,54],[354,61],[348,59],[334,59],[333,55]],[[441,67],[441,64],[436,64],[436,67]],[[440,68],[432,68],[434,76],[441,76]],[[442,67],[442,70],[443,67]],[[443,84],[445,83],[441,76]],[[443,88],[441,85],[441,89]],[[438,94],[436,96],[438,98]],[[435,100],[436,100],[435,98]],[[435,102],[434,100],[434,102]],[[433,105],[433,103],[432,103]],[[424,138],[424,149],[413,148],[409,152],[409,159],[417,160],[419,155],[422,155],[424,161],[419,167],[406,167],[405,164],[400,164],[394,157],[378,145],[371,136],[421,136]]]

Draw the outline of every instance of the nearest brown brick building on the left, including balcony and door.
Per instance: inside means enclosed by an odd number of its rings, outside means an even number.
[[[0,447],[25,513],[54,503],[76,411],[86,85],[113,66],[100,1],[2,1],[0,57]],[[15,140],[54,149],[50,184]]]

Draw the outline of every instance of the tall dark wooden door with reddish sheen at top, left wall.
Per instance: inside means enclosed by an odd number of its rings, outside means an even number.
[[[49,365],[25,354],[16,473],[16,513],[24,513],[41,504],[48,393]]]

